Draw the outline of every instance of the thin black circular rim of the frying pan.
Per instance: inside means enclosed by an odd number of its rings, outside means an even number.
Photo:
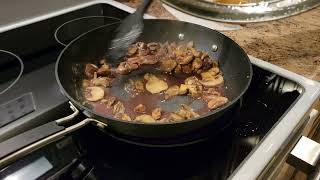
[[[143,125],[143,126],[168,126],[168,125],[175,125],[175,124],[180,124],[180,123],[188,123],[188,122],[191,122],[191,121],[197,121],[197,120],[201,120],[202,118],[206,118],[208,116],[211,116],[213,114],[218,114],[220,112],[223,112],[225,111],[227,108],[233,106],[242,96],[243,94],[248,90],[250,84],[251,84],[251,81],[252,81],[252,76],[253,76],[253,70],[252,70],[252,63],[250,61],[250,58],[248,57],[247,53],[242,49],[242,47],[236,43],[235,41],[233,41],[231,38],[229,38],[228,36],[222,34],[221,32],[217,31],[217,30],[213,30],[213,29],[210,29],[210,28],[207,28],[207,27],[204,27],[204,26],[201,26],[201,25],[198,25],[198,24],[193,24],[193,23],[189,23],[189,22],[184,22],[184,21],[178,21],[178,20],[169,20],[169,19],[144,19],[144,21],[159,21],[159,22],[176,22],[176,23],[184,23],[184,24],[189,24],[189,25],[192,25],[192,26],[198,26],[200,28],[205,28],[205,29],[208,29],[210,31],[215,31],[216,33],[218,33],[219,35],[222,35],[224,38],[228,39],[229,41],[231,41],[237,48],[239,48],[239,50],[244,54],[244,60],[247,62],[248,66],[249,66],[249,77],[247,77],[248,79],[248,82],[246,84],[246,86],[242,89],[242,91],[239,93],[239,95],[234,98],[232,101],[229,101],[226,105],[224,105],[223,107],[221,108],[217,108],[213,111],[210,111],[210,112],[207,112],[205,113],[204,115],[201,115],[199,117],[196,117],[196,118],[191,118],[191,119],[187,119],[187,120],[184,120],[184,121],[179,121],[179,122],[164,122],[164,123],[143,123],[143,122],[136,122],[136,121],[126,121],[126,120],[121,120],[121,119],[116,119],[112,116],[105,116],[103,114],[100,114],[98,112],[95,112],[94,110],[82,105],[79,101],[75,100],[72,96],[69,95],[69,93],[65,90],[65,88],[63,87],[61,81],[60,81],[60,78],[59,78],[59,62],[61,60],[61,57],[63,57],[65,51],[67,51],[69,49],[70,46],[72,46],[74,43],[76,43],[79,39],[81,39],[82,37],[86,36],[87,34],[89,33],[92,33],[94,31],[97,31],[98,29],[102,29],[102,28],[105,28],[105,27],[108,27],[108,26],[112,26],[112,25],[115,25],[115,24],[120,24],[120,22],[115,22],[115,23],[111,23],[111,24],[107,24],[107,25],[103,25],[103,26],[99,26],[97,28],[94,28],[92,30],[89,30],[81,35],[79,35],[77,38],[73,39],[67,46],[64,47],[64,49],[60,52],[58,58],[57,58],[57,61],[56,61],[56,64],[55,64],[55,76],[56,76],[56,81],[60,87],[60,91],[62,91],[62,93],[70,100],[72,101],[72,103],[75,103],[75,105],[77,107],[80,107],[80,110],[85,112],[90,112],[91,114],[93,115],[96,115],[98,116],[99,118],[97,118],[97,120],[101,121],[100,119],[103,118],[105,119],[106,121],[108,120],[111,120],[111,121],[116,121],[116,122],[123,122],[123,123],[128,123],[128,124],[132,124],[132,125]],[[87,116],[87,115],[86,115]]]

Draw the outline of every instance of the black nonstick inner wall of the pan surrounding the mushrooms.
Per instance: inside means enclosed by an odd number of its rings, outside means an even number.
[[[224,73],[225,95],[228,97],[229,102],[224,107],[211,111],[198,119],[182,122],[188,124],[187,122],[190,121],[198,121],[198,125],[187,129],[199,128],[200,126],[202,127],[209,124],[210,121],[214,121],[214,119],[221,116],[230,108],[248,88],[252,76],[251,63],[245,52],[231,39],[217,31],[185,22],[144,20],[144,23],[145,28],[139,41],[161,43],[166,41],[193,41],[197,49],[208,52],[210,57],[219,61],[220,69]],[[57,80],[61,85],[62,92],[75,103],[77,107],[86,110],[86,112],[89,112],[92,116],[98,116],[109,123],[117,121],[126,124],[141,124],[138,122],[116,120],[112,117],[104,117],[82,105],[83,99],[80,90],[81,81],[85,78],[83,73],[84,65],[87,63],[98,63],[104,56],[108,41],[111,39],[112,32],[116,27],[117,24],[99,27],[72,41],[63,50],[57,61]],[[212,51],[212,46],[217,46],[217,50]],[[121,93],[121,91],[119,91],[119,93]],[[177,104],[177,102],[171,104],[174,105]],[[201,120],[203,117],[206,117],[207,120]],[[163,127],[165,125],[166,124],[156,126]],[[143,126],[148,127],[155,125],[149,124]],[[129,129],[132,130],[132,128]],[[174,127],[171,127],[172,131],[177,131],[173,130],[173,128]],[[149,133],[151,133],[151,131]]]

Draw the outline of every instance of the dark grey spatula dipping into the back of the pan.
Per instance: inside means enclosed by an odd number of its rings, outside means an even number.
[[[133,44],[143,31],[143,14],[151,0],[144,0],[138,9],[127,16],[115,30],[114,38],[109,44],[106,58],[109,62],[118,64],[125,56],[128,47]]]

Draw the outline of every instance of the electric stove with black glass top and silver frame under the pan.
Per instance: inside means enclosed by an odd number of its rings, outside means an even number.
[[[24,64],[19,80],[0,95],[0,111],[6,116],[5,121],[0,121],[2,163],[20,144],[37,140],[32,136],[23,138],[22,133],[34,133],[34,127],[73,113],[54,77],[56,58],[64,48],[54,38],[56,28],[75,18],[112,16],[122,19],[132,12],[131,8],[114,1],[68,3],[55,4],[49,12],[28,14],[23,21],[6,21],[0,26],[0,49],[20,57]],[[18,61],[9,57],[3,59],[0,60],[0,90],[6,89],[21,70]],[[105,133],[104,129],[96,131],[92,125],[87,125],[19,157],[0,170],[0,178],[273,177],[301,135],[314,126],[318,117],[314,103],[319,100],[320,85],[254,57],[251,61],[253,82],[238,108],[227,117],[230,124],[221,132],[209,129],[190,134],[195,143],[188,146],[152,148],[129,144],[124,142],[128,141],[125,137]],[[25,111],[17,111],[19,108]],[[74,121],[78,118],[82,118],[81,114],[74,117]],[[48,127],[48,132],[36,133],[47,136],[55,131]],[[211,138],[210,135],[216,133],[219,138]],[[189,144],[184,139],[176,141],[181,145]]]

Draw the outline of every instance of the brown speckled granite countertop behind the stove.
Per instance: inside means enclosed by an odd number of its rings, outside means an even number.
[[[141,0],[118,0],[137,7]],[[154,0],[148,13],[175,19]],[[285,19],[242,25],[241,30],[223,32],[257,58],[320,81],[320,7]]]

